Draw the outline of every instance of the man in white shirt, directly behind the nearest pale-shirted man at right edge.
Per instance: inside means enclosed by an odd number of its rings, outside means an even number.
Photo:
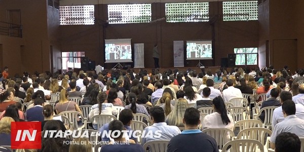
[[[280,102],[283,104],[286,100],[291,100],[292,99],[292,94],[288,91],[282,91],[280,94]],[[304,120],[304,106],[301,104],[296,103],[295,104],[295,116],[299,119]],[[283,116],[283,110],[282,106],[279,106],[275,108],[273,112],[273,119],[272,119],[272,128],[275,128],[275,126],[284,121],[284,116]]]

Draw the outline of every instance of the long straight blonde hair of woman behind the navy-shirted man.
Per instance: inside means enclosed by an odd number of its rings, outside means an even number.
[[[166,118],[166,123],[170,126],[183,127],[182,119],[186,108],[188,108],[188,101],[185,98],[177,99],[174,109]]]

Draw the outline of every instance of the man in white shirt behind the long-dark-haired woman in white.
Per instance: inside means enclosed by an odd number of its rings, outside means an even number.
[[[228,102],[232,98],[243,98],[241,90],[233,86],[233,80],[228,79],[226,85],[228,88],[223,90],[223,99],[225,102]]]

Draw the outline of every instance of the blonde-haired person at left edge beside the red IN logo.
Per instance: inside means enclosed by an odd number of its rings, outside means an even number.
[[[11,117],[0,120],[0,146],[11,145],[11,123],[15,122]]]

